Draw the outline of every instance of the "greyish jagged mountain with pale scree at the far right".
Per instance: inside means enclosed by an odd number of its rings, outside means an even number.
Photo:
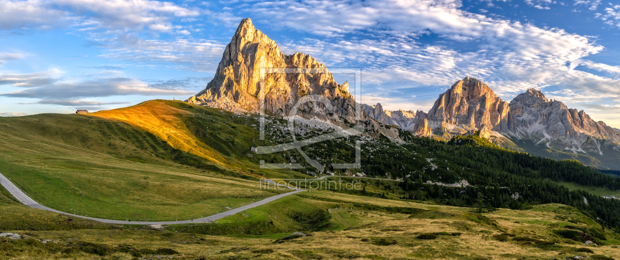
[[[517,137],[525,135],[547,146],[601,153],[600,143],[592,138],[620,143],[619,133],[604,122],[595,122],[584,111],[569,109],[560,101],[549,101],[533,88],[510,101],[510,111],[514,115]],[[584,143],[593,145],[584,146]]]

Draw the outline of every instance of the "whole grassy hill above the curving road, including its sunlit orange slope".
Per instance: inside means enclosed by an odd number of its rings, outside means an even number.
[[[0,172],[50,208],[133,220],[208,216],[282,192],[259,190],[259,174],[303,176],[261,172],[239,156],[257,135],[252,119],[235,124],[230,113],[177,108],[183,105],[157,100],[96,116],[2,117]],[[197,124],[213,129],[205,138],[234,144],[205,145],[192,134]],[[238,133],[223,130],[233,127]]]

